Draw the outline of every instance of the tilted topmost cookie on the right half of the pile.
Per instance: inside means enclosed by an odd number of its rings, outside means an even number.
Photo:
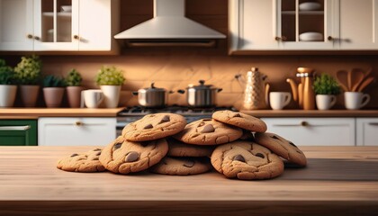
[[[212,118],[227,124],[237,126],[245,130],[256,132],[266,131],[266,122],[245,113],[233,112],[229,110],[212,113]]]

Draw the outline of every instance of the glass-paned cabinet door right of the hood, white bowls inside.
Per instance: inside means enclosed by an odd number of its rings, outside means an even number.
[[[277,0],[276,36],[280,49],[333,49],[334,0]],[[303,6],[304,4],[304,6]]]

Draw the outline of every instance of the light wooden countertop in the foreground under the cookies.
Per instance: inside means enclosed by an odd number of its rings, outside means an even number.
[[[212,171],[71,173],[58,158],[93,147],[0,147],[0,215],[376,215],[378,147],[301,147],[306,168],[271,180]]]

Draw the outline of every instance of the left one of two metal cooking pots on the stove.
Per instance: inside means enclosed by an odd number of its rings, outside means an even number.
[[[155,83],[151,83],[148,88],[141,88],[138,92],[132,92],[134,95],[138,95],[138,103],[145,107],[164,107],[166,106],[166,89],[157,88]],[[168,92],[173,93],[172,91]]]

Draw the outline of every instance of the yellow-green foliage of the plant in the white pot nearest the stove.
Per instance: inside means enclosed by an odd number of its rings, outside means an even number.
[[[97,76],[95,76],[95,83],[97,85],[122,85],[125,77],[121,69],[117,67],[101,67]]]

